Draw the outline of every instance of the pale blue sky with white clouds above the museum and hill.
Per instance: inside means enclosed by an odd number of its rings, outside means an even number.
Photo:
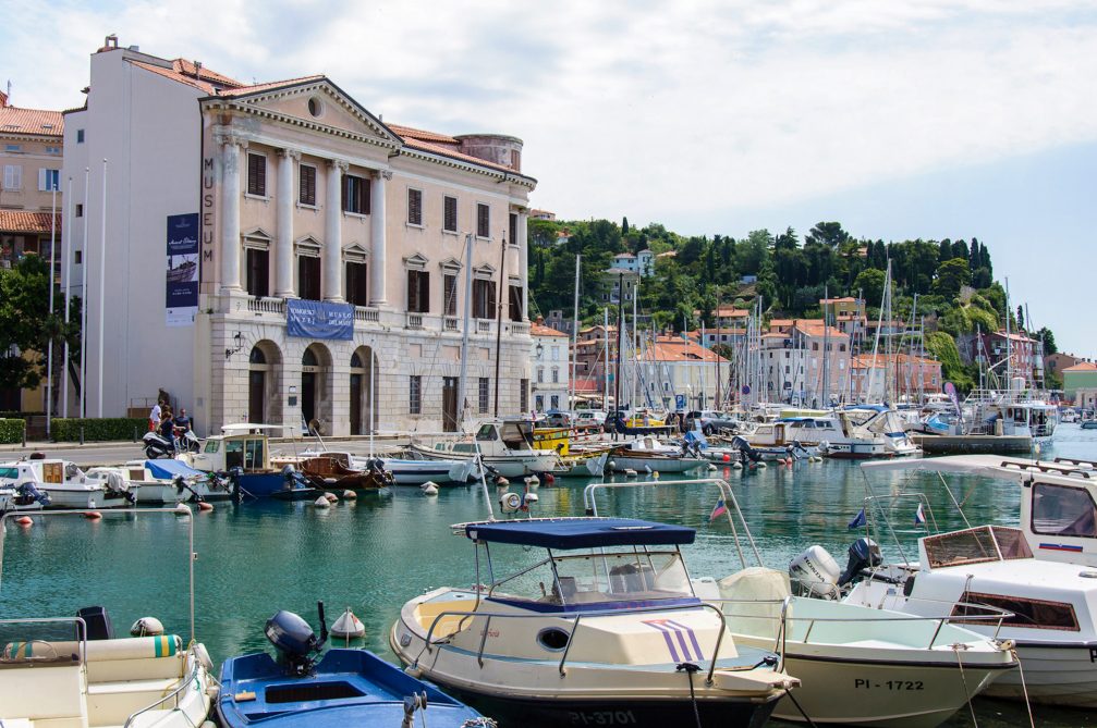
[[[122,45],[245,81],[326,73],[387,122],[524,140],[531,203],[744,237],[979,238],[1097,354],[1097,4],[1059,0],[0,0],[12,103],[83,103]]]

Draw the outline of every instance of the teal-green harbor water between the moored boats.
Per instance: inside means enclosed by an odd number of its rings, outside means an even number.
[[[1061,425],[1053,446],[1042,454],[1054,455],[1097,459],[1097,431]],[[900,489],[925,492],[940,528],[964,525],[936,475],[866,478],[857,465],[834,460],[694,474],[711,476],[732,485],[765,565],[782,570],[812,544],[824,546],[844,565],[849,544],[859,535],[848,524],[862,508],[867,487],[878,494]],[[599,513],[695,526],[697,543],[683,548],[693,577],[721,578],[740,568],[727,521],[710,522],[716,490],[661,485],[671,477],[643,488],[604,490],[598,496]],[[652,480],[651,476],[638,480],[645,479]],[[542,485],[534,514],[581,515],[588,482]],[[950,484],[972,524],[1016,523],[1016,488],[980,478],[953,478]],[[915,539],[925,533],[915,525],[916,503],[890,502],[892,523],[907,554],[913,554]],[[468,587],[475,581],[473,546],[453,535],[450,525],[486,515],[479,487],[443,488],[437,497],[423,496],[418,488],[396,488],[389,494],[366,494],[330,509],[309,502],[218,503],[214,512],[193,519],[196,638],[215,662],[264,650],[263,624],[276,610],[297,612],[316,625],[316,602],[324,600],[329,624],[347,606],[364,623],[365,638],[352,646],[393,659],[388,628],[408,599],[436,587]],[[185,636],[186,539],[185,521],[173,515],[104,512],[101,521],[36,517],[29,528],[9,523],[3,535],[0,617],[70,616],[79,607],[103,605],[116,633],[152,615],[169,632]],[[898,556],[894,544],[881,539],[881,546],[886,557]],[[539,555],[510,548],[493,551],[493,557],[499,573],[508,559],[509,565],[528,565]],[[1028,725],[1018,703],[979,698],[973,708],[974,717],[961,712],[947,725],[974,726],[976,720],[979,726]],[[1087,712],[1032,709],[1038,726],[1097,725]]]

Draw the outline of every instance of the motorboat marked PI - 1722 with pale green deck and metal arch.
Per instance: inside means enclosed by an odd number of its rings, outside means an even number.
[[[778,703],[776,717],[806,720],[806,714],[816,725],[934,728],[1017,667],[1009,645],[950,625],[947,611],[936,617],[914,616],[792,595],[789,575],[761,566],[761,555],[726,481],[671,480],[659,487],[675,486],[719,490],[743,568],[720,581],[693,579],[693,590],[702,600],[721,605],[737,645],[767,648],[774,640],[781,645],[788,672],[801,686],[792,693],[795,702],[783,698]],[[587,513],[598,512],[598,490],[642,487],[635,482],[588,486],[584,491]],[[754,555],[758,566],[748,566],[747,554]],[[829,565],[811,562],[796,568],[805,564],[798,559],[793,571],[814,573],[816,568],[826,572],[829,567],[836,579],[839,576],[833,559]]]

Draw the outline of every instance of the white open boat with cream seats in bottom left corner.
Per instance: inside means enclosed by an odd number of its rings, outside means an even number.
[[[174,517],[171,509],[127,512],[165,513]],[[79,513],[46,511],[42,515],[64,517]],[[0,539],[5,521],[13,516],[0,516]],[[192,576],[192,605],[193,593]],[[194,641],[193,613],[189,640],[162,634],[162,626],[156,619],[142,622],[150,630],[146,636],[115,638],[110,616],[102,607],[81,608],[75,617],[0,618],[0,725],[11,728],[202,725],[212,702],[213,664],[205,648]]]

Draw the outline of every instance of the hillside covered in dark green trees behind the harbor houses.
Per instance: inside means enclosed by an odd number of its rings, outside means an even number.
[[[647,248],[657,255],[655,275],[643,281],[640,306],[656,327],[674,331],[694,329],[702,320],[711,323],[717,292],[724,305],[744,307],[761,296],[767,318],[822,317],[824,293],[863,297],[869,318],[875,319],[891,261],[893,318],[908,320],[917,296],[916,316],[924,317],[931,334],[926,348],[942,362],[945,376],[962,388],[971,387],[977,373],[961,360],[958,339],[998,330],[1006,316],[1015,330],[1025,323],[1007,310],[991,251],[976,238],[885,242],[855,238],[837,221],[818,223],[802,239],[792,228],[753,230],[739,238],[683,237],[658,224],[630,227],[627,218],[621,225],[531,220],[529,237],[534,310],[572,310],[575,255],[581,253],[580,316],[600,320],[607,286],[602,272],[613,255]],[[754,277],[744,283],[744,276]],[[1041,332],[1053,346],[1051,332]]]

